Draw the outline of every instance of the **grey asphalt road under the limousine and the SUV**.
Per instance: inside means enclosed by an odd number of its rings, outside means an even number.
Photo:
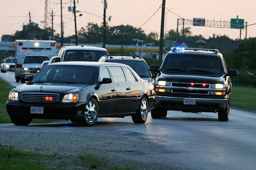
[[[230,109],[228,122],[218,121],[217,113],[168,111],[164,119],[149,113],[144,124],[131,117],[99,118],[93,127],[70,121],[1,124],[0,146],[65,156],[90,153],[149,169],[249,170],[256,168],[255,120],[256,113]]]

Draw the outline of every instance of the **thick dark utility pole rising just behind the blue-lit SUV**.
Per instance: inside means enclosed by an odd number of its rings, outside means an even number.
[[[161,17],[161,30],[160,30],[160,46],[159,46],[159,59],[158,66],[162,64],[163,58],[163,46],[164,46],[164,10],[165,10],[165,0],[162,2],[162,17]]]

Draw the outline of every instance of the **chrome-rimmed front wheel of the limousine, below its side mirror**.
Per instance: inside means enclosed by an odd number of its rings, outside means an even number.
[[[84,110],[84,124],[85,126],[93,126],[98,119],[98,103],[94,98],[90,98]]]

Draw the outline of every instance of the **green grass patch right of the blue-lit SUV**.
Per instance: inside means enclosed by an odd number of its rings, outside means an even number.
[[[255,96],[256,88],[232,86],[230,106],[255,112]]]

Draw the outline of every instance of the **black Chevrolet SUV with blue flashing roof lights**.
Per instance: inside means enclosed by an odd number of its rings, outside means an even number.
[[[158,69],[153,119],[166,117],[168,110],[218,112],[219,121],[228,121],[231,80],[238,75],[227,69],[224,57],[216,49],[172,48]]]

